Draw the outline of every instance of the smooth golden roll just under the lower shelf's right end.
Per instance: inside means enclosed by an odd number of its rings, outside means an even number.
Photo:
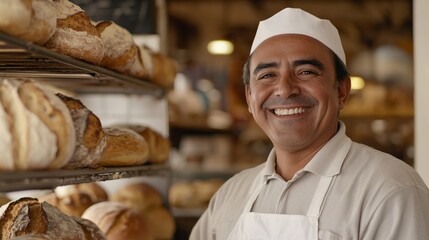
[[[162,206],[161,193],[144,182],[127,184],[114,192],[110,199],[139,212]]]

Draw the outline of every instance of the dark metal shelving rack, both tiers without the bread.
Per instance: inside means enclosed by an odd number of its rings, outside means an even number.
[[[166,90],[0,32],[0,77],[29,78],[75,93],[135,93],[165,97]],[[0,192],[130,178],[171,178],[166,165],[0,172]]]

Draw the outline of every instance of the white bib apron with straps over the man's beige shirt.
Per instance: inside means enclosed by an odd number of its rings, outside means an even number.
[[[332,179],[320,179],[306,216],[250,212],[264,185],[261,181],[247,201],[228,240],[317,240],[319,216]]]

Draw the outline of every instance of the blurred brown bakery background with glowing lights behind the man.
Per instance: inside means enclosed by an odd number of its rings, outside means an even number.
[[[412,0],[73,2],[91,19],[113,20],[136,39],[152,35],[157,50],[177,61],[167,131],[176,239],[186,239],[223,181],[262,163],[271,150],[247,111],[241,71],[258,22],[285,7],[329,19],[339,30],[352,75],[351,97],[340,115],[347,134],[414,166]]]

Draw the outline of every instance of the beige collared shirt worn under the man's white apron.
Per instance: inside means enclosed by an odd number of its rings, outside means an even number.
[[[266,163],[229,179],[210,201],[191,240],[226,239],[260,181],[252,211],[305,215],[320,176],[335,176],[319,221],[320,239],[429,239],[429,190],[420,176],[388,154],[338,133],[290,181]],[[349,147],[347,146],[349,144]],[[339,149],[347,149],[342,154]]]

